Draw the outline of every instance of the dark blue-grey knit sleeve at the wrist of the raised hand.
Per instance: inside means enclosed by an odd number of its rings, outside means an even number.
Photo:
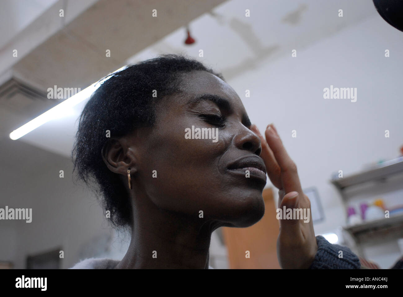
[[[360,269],[361,264],[357,255],[348,247],[332,244],[323,236],[316,236],[318,252],[310,269]],[[340,253],[343,252],[343,254]],[[340,258],[339,258],[340,255]],[[343,255],[343,257],[341,256]]]

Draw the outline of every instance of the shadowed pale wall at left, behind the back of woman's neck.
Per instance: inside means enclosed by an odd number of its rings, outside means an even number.
[[[58,247],[64,251],[61,268],[70,268],[85,256],[123,257],[127,243],[119,244],[95,195],[73,184],[70,159],[19,141],[2,146],[9,152],[4,157],[10,164],[0,171],[0,207],[32,208],[32,222],[1,221],[0,260],[26,268],[27,256]],[[11,165],[24,158],[26,166]],[[59,177],[60,170],[64,178]]]

